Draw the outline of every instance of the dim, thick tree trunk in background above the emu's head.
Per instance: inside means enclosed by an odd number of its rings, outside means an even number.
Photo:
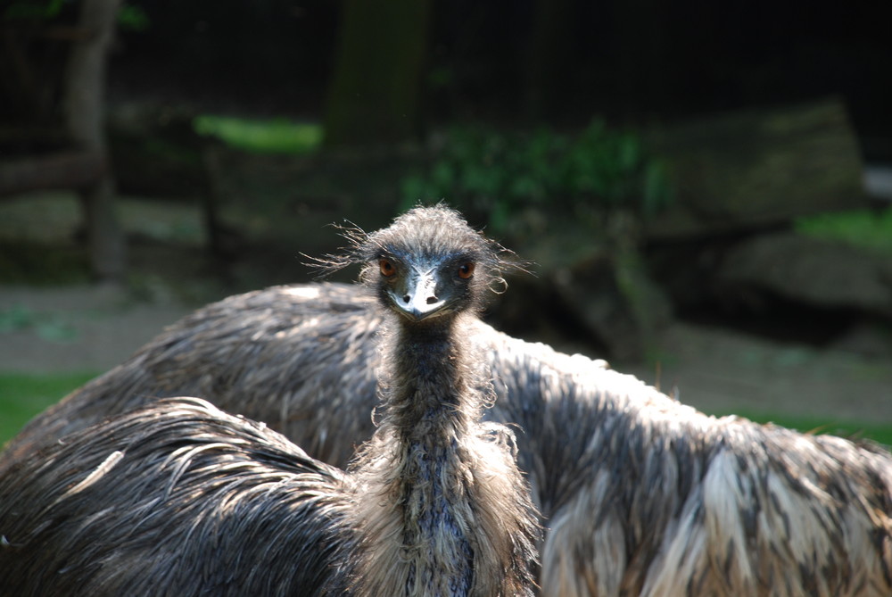
[[[347,0],[326,106],[326,146],[417,135],[430,0]]]

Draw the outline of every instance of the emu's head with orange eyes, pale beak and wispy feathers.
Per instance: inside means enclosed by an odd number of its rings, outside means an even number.
[[[360,279],[407,322],[478,310],[492,286],[504,285],[496,243],[443,205],[417,207],[377,232],[348,232],[351,252],[329,265],[363,264]]]

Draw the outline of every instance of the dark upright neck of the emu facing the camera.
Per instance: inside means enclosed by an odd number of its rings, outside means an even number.
[[[467,435],[480,399],[469,389],[459,322],[401,323],[384,357],[392,369],[383,376],[380,431],[395,440],[391,488],[408,556],[406,594],[467,595],[474,580]]]

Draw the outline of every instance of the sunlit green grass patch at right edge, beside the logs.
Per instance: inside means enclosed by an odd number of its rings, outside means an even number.
[[[795,221],[795,227],[805,236],[838,240],[892,254],[892,207],[883,211],[841,211],[805,216]]]

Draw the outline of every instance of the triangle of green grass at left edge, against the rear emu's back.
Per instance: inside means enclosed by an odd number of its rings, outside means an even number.
[[[38,412],[93,377],[95,373],[0,374],[0,446]]]

